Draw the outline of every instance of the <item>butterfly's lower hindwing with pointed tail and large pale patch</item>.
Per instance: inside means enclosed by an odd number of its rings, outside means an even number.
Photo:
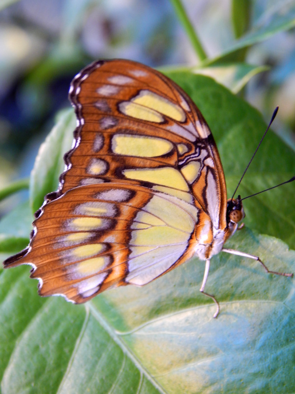
[[[197,215],[193,205],[138,185],[80,186],[43,206],[29,248],[5,265],[31,264],[41,296],[85,302],[115,286],[144,285],[191,257]]]

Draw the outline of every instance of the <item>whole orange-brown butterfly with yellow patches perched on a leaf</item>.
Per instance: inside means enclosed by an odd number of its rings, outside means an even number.
[[[227,201],[196,105],[160,72],[128,60],[85,67],[69,98],[78,125],[59,189],[35,213],[29,246],[4,266],[30,264],[41,296],[82,303],[197,256],[206,261],[200,291],[216,303],[216,317],[218,302],[205,293],[211,257],[260,259],[223,247],[244,212],[240,197]]]

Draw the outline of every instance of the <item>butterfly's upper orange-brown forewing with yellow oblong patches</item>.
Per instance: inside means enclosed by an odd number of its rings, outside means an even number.
[[[75,146],[65,155],[68,169],[60,194],[126,178],[148,187],[178,188],[183,177],[213,227],[226,227],[226,185],[213,136],[196,105],[171,79],[128,60],[94,62],[74,78],[69,97],[78,127]],[[147,168],[154,169],[152,177]]]

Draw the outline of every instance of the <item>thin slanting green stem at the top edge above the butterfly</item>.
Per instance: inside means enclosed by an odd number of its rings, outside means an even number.
[[[191,24],[185,9],[181,3],[181,0],[170,0],[171,3],[173,4],[177,17],[179,21],[182,23],[182,26],[184,27],[184,30],[187,33],[188,38],[190,39],[193,48],[195,49],[196,54],[198,55],[199,59],[201,61],[204,61],[207,59],[207,54],[201,44],[201,41],[199,40],[199,37],[197,36],[193,25]]]

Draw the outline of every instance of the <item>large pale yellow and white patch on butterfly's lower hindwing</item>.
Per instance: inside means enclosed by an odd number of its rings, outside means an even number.
[[[197,208],[177,197],[152,197],[132,225],[126,281],[142,286],[176,263],[187,248],[197,215]]]

